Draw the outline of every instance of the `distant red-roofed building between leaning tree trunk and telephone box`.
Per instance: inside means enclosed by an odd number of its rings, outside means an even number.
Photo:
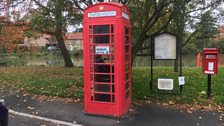
[[[69,51],[83,50],[82,32],[68,32],[65,34],[65,46]]]

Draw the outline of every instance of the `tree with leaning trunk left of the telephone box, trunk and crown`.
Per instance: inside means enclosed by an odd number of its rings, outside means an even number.
[[[54,35],[63,55],[65,66],[73,67],[71,57],[64,44],[64,33],[66,32],[67,25],[80,22],[82,19],[82,13],[77,9],[77,7],[75,7],[73,1],[3,0],[1,1],[1,5],[4,5],[4,12],[8,12],[13,9],[18,10],[18,8],[19,10],[23,10],[23,13],[25,12],[26,15],[20,17],[20,19],[27,20],[30,26],[30,31],[33,30],[39,31],[40,33]]]

